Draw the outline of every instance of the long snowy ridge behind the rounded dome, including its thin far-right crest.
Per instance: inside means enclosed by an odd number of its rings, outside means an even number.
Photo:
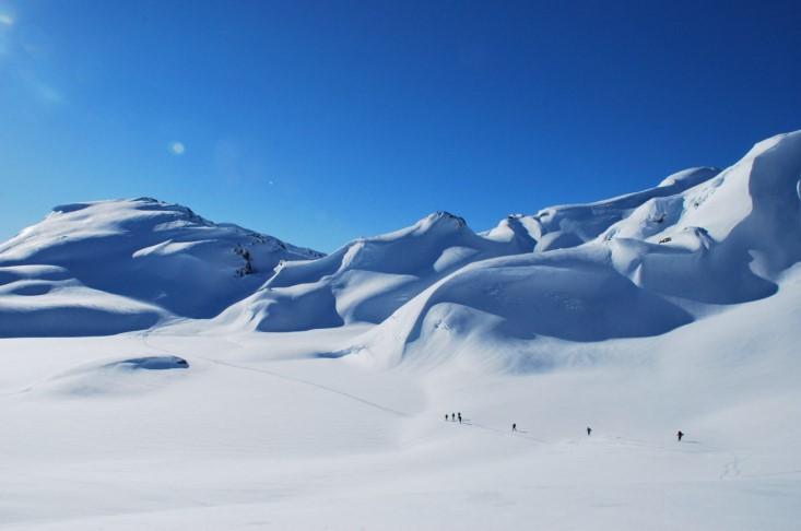
[[[680,193],[717,173],[692,168],[657,188],[608,201],[555,206],[533,216],[509,215],[480,234],[461,217],[437,212],[410,227],[352,241],[321,260],[282,264],[259,292],[229,308],[220,321],[260,331],[379,323],[464,266],[580,245],[641,204]]]

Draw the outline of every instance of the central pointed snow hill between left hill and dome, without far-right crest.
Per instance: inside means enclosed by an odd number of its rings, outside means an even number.
[[[404,229],[357,239],[320,260],[283,263],[221,321],[261,331],[378,323],[460,267],[530,252],[533,245],[514,217],[505,229],[480,236],[461,217],[438,212]]]

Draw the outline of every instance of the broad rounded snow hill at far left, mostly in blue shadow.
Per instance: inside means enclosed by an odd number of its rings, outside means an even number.
[[[0,245],[0,335],[94,335],[213,317],[276,263],[322,255],[150,198],[56,206]]]

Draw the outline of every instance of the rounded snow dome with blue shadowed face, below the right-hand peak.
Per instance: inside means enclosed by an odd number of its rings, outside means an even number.
[[[575,342],[658,335],[693,321],[621,274],[603,245],[485,260],[444,279],[367,334],[381,364],[440,361],[495,339]],[[419,359],[415,362],[420,362]]]

